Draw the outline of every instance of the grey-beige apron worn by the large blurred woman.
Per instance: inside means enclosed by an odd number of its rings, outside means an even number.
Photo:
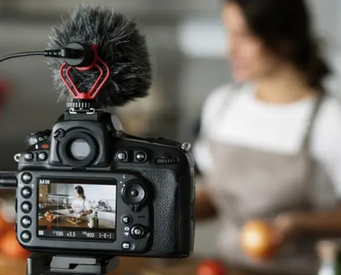
[[[240,228],[251,219],[272,221],[285,212],[335,207],[331,182],[309,152],[309,137],[321,102],[322,98],[316,101],[304,145],[297,155],[269,153],[207,138],[214,169],[205,181],[220,217],[218,254],[229,265],[260,274],[317,274],[316,239],[299,236],[285,243],[271,261],[256,262],[240,248]],[[223,104],[222,111],[228,104],[231,102]],[[211,131],[228,126],[216,121]]]

